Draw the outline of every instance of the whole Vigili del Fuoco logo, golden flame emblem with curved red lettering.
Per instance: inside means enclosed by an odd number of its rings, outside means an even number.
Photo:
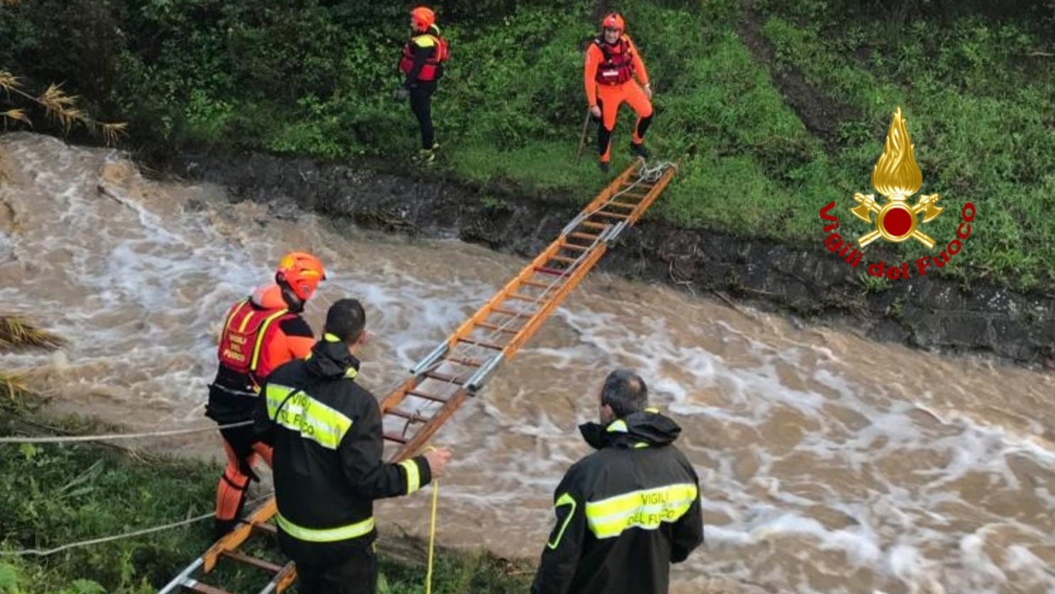
[[[821,209],[821,219],[828,223],[824,226],[824,232],[827,234],[824,247],[853,268],[861,264],[861,250],[880,237],[896,244],[916,239],[927,248],[935,246],[934,238],[921,227],[937,218],[945,209],[936,206],[940,198],[938,194],[920,194],[915,205],[908,204],[908,198],[923,185],[923,174],[916,165],[916,154],[913,149],[908,129],[905,128],[905,118],[901,116],[899,107],[894,112],[890,130],[886,133],[883,154],[871,170],[871,185],[877,192],[886,197],[886,203],[878,203],[872,194],[860,192],[853,194],[858,205],[850,208],[850,212],[861,221],[875,226],[875,229],[857,238],[856,247],[851,239],[844,239],[836,231],[839,229],[839,217],[831,212],[836,208],[836,202],[832,200]],[[928,268],[944,267],[953,256],[960,253],[963,242],[971,236],[971,222],[975,219],[974,204],[963,205],[960,209],[960,219],[956,237],[951,239],[940,253],[916,260],[913,270],[917,275],[925,275]],[[886,276],[891,281],[912,276],[907,262],[902,262],[901,266],[888,266],[880,261],[869,264],[867,270],[871,276]]]

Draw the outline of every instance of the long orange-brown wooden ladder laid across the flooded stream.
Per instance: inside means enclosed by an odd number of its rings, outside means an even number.
[[[501,363],[516,355],[608,246],[637,222],[675,171],[670,164],[647,168],[640,160],[628,167],[561,230],[556,241],[415,365],[410,377],[381,401],[386,459],[398,462],[420,453],[465,397],[479,390]],[[270,573],[271,580],[258,594],[286,590],[296,579],[291,561],[277,564],[239,552],[253,534],[275,534],[269,520],[276,510],[274,498],[269,498],[158,594],[231,594],[194,577],[210,573],[220,559]]]

